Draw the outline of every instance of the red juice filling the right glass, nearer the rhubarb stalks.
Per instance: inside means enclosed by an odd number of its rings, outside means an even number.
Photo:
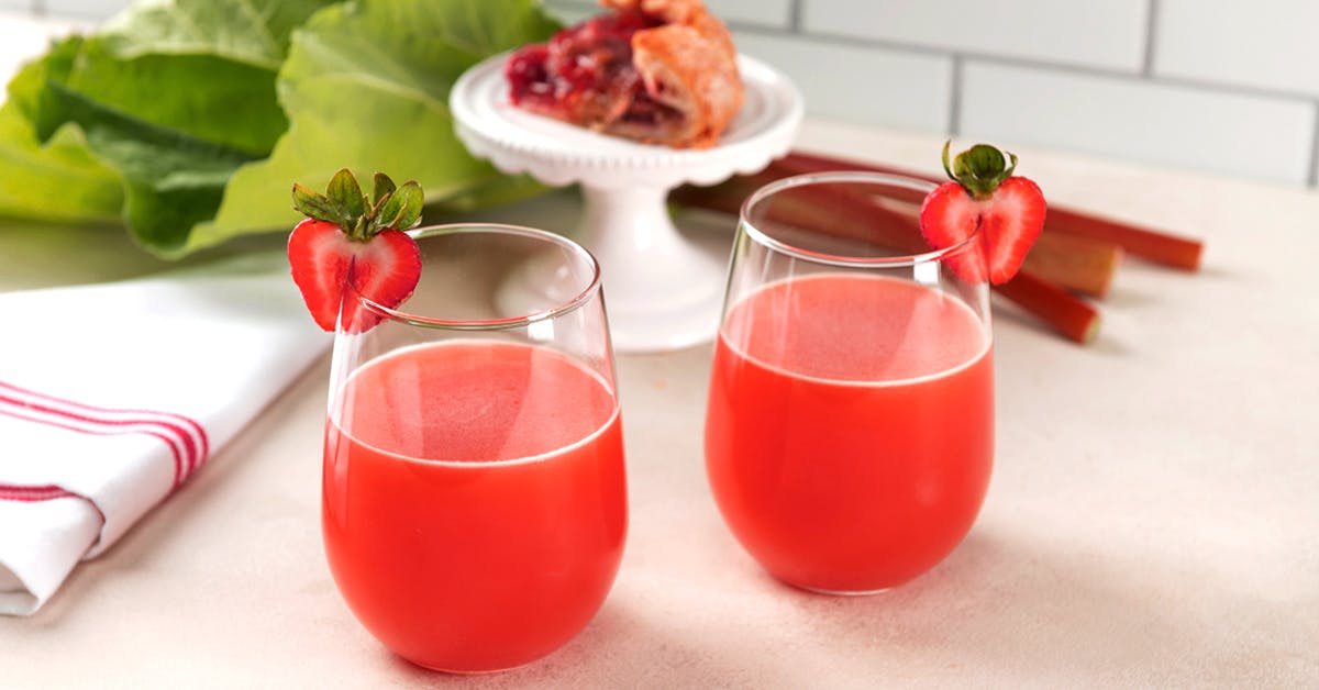
[[[733,534],[777,578],[826,592],[933,567],[989,484],[991,351],[966,303],[906,280],[819,274],[729,305],[706,459]]]

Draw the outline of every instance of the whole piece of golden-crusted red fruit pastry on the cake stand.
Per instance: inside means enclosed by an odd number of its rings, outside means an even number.
[[[513,53],[513,104],[646,144],[718,142],[743,104],[728,28],[700,0],[600,4],[609,12]]]

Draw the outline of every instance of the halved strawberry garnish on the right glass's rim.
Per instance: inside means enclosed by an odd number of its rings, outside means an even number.
[[[980,230],[979,249],[950,255],[947,264],[966,281],[1001,285],[1012,280],[1045,227],[1045,195],[1025,177],[1013,177],[1017,157],[995,146],[977,144],[958,154],[948,166],[943,145],[943,169],[952,178],[931,191],[921,204],[921,234],[935,249],[964,241]]]

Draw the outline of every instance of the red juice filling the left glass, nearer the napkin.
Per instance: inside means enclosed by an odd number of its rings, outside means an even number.
[[[373,360],[326,425],[323,532],[386,646],[451,672],[526,664],[587,625],[627,532],[611,388],[553,350],[438,342]]]

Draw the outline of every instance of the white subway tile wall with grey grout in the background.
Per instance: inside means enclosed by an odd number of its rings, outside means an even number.
[[[566,21],[596,12],[545,1]],[[706,1],[815,117],[1319,181],[1319,0]],[[0,11],[100,20],[127,4]]]

